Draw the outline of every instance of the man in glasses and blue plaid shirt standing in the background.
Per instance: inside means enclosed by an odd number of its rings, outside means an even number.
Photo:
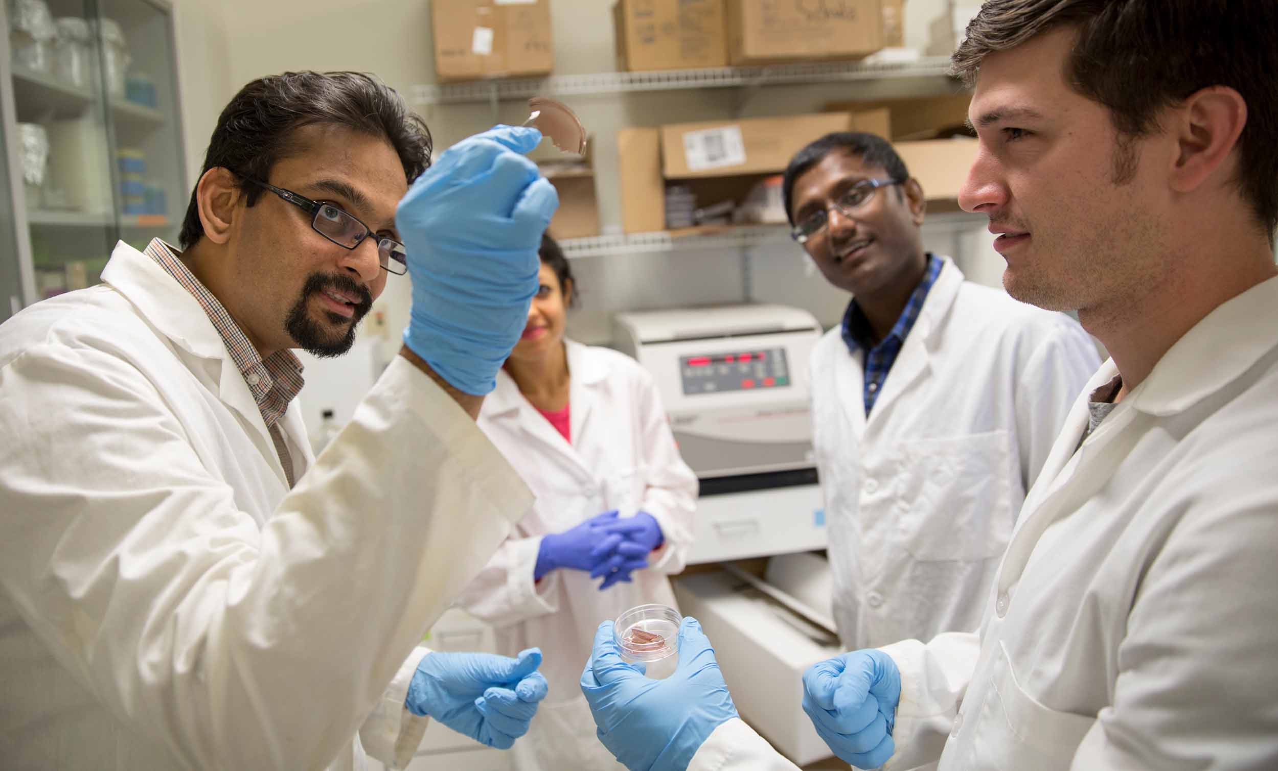
[[[822,137],[782,190],[794,239],[852,295],[810,363],[840,638],[975,629],[1095,346],[927,251],[924,190],[881,137]]]

